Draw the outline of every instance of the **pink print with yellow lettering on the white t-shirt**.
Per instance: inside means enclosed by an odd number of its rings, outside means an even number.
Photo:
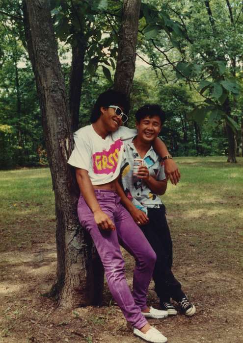
[[[109,174],[115,172],[119,154],[123,143],[120,139],[112,144],[108,151],[95,152],[92,155],[93,170],[96,174]]]

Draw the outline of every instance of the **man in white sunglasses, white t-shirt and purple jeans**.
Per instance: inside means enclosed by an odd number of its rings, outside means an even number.
[[[135,135],[135,130],[121,126],[127,120],[128,111],[129,102],[123,94],[112,90],[101,94],[91,114],[91,125],[74,133],[75,148],[68,163],[76,167],[81,191],[79,220],[94,241],[113,298],[134,327],[135,335],[148,342],[164,343],[166,337],[145,319],[167,317],[166,311],[149,308],[146,303],[156,254],[116,194],[115,179],[121,169],[123,140]],[[158,153],[168,155],[161,140],[155,146]],[[120,245],[136,260],[133,295],[126,282]]]

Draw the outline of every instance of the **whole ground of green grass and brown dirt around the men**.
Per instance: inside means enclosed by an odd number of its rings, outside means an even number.
[[[243,158],[180,157],[162,200],[175,276],[197,314],[152,323],[169,343],[243,342]],[[141,342],[105,290],[104,307],[56,310],[41,296],[55,277],[55,211],[48,169],[0,171],[0,342]],[[124,252],[132,283],[133,258]],[[149,302],[158,306],[149,289]]]

